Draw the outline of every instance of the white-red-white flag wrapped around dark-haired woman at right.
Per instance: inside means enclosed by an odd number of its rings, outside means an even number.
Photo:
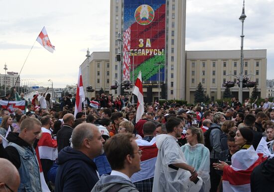
[[[235,153],[231,158],[232,165],[224,167],[223,192],[250,192],[252,171],[265,160],[263,154],[257,154],[253,146]]]

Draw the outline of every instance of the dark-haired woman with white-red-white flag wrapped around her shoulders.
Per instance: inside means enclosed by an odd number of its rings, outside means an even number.
[[[231,166],[225,162],[214,163],[213,167],[223,171],[223,192],[250,192],[250,177],[255,167],[266,158],[257,154],[251,145],[253,132],[247,127],[236,132],[235,144],[240,146],[238,152],[231,157]]]

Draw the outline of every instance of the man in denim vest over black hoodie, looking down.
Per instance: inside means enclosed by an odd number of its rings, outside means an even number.
[[[41,192],[39,163],[33,148],[41,133],[41,122],[28,117],[20,124],[20,133],[10,132],[8,146],[4,149],[0,139],[0,157],[8,159],[17,169],[21,178],[18,192]],[[1,172],[2,173],[2,172]]]

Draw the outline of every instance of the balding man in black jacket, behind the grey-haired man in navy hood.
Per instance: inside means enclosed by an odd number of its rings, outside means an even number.
[[[63,117],[64,125],[57,132],[57,149],[61,151],[64,147],[70,146],[69,139],[73,131],[72,125],[74,123],[74,115],[67,113]]]

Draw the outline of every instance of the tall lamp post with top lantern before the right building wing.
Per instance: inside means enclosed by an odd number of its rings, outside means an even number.
[[[240,83],[240,88],[239,88],[239,102],[242,103],[243,102],[243,73],[244,73],[244,21],[246,18],[246,14],[245,14],[245,0],[243,2],[243,10],[242,10],[242,14],[240,16],[240,21],[242,22],[242,34],[241,34],[241,68],[240,68],[240,74],[239,74],[239,83]]]

